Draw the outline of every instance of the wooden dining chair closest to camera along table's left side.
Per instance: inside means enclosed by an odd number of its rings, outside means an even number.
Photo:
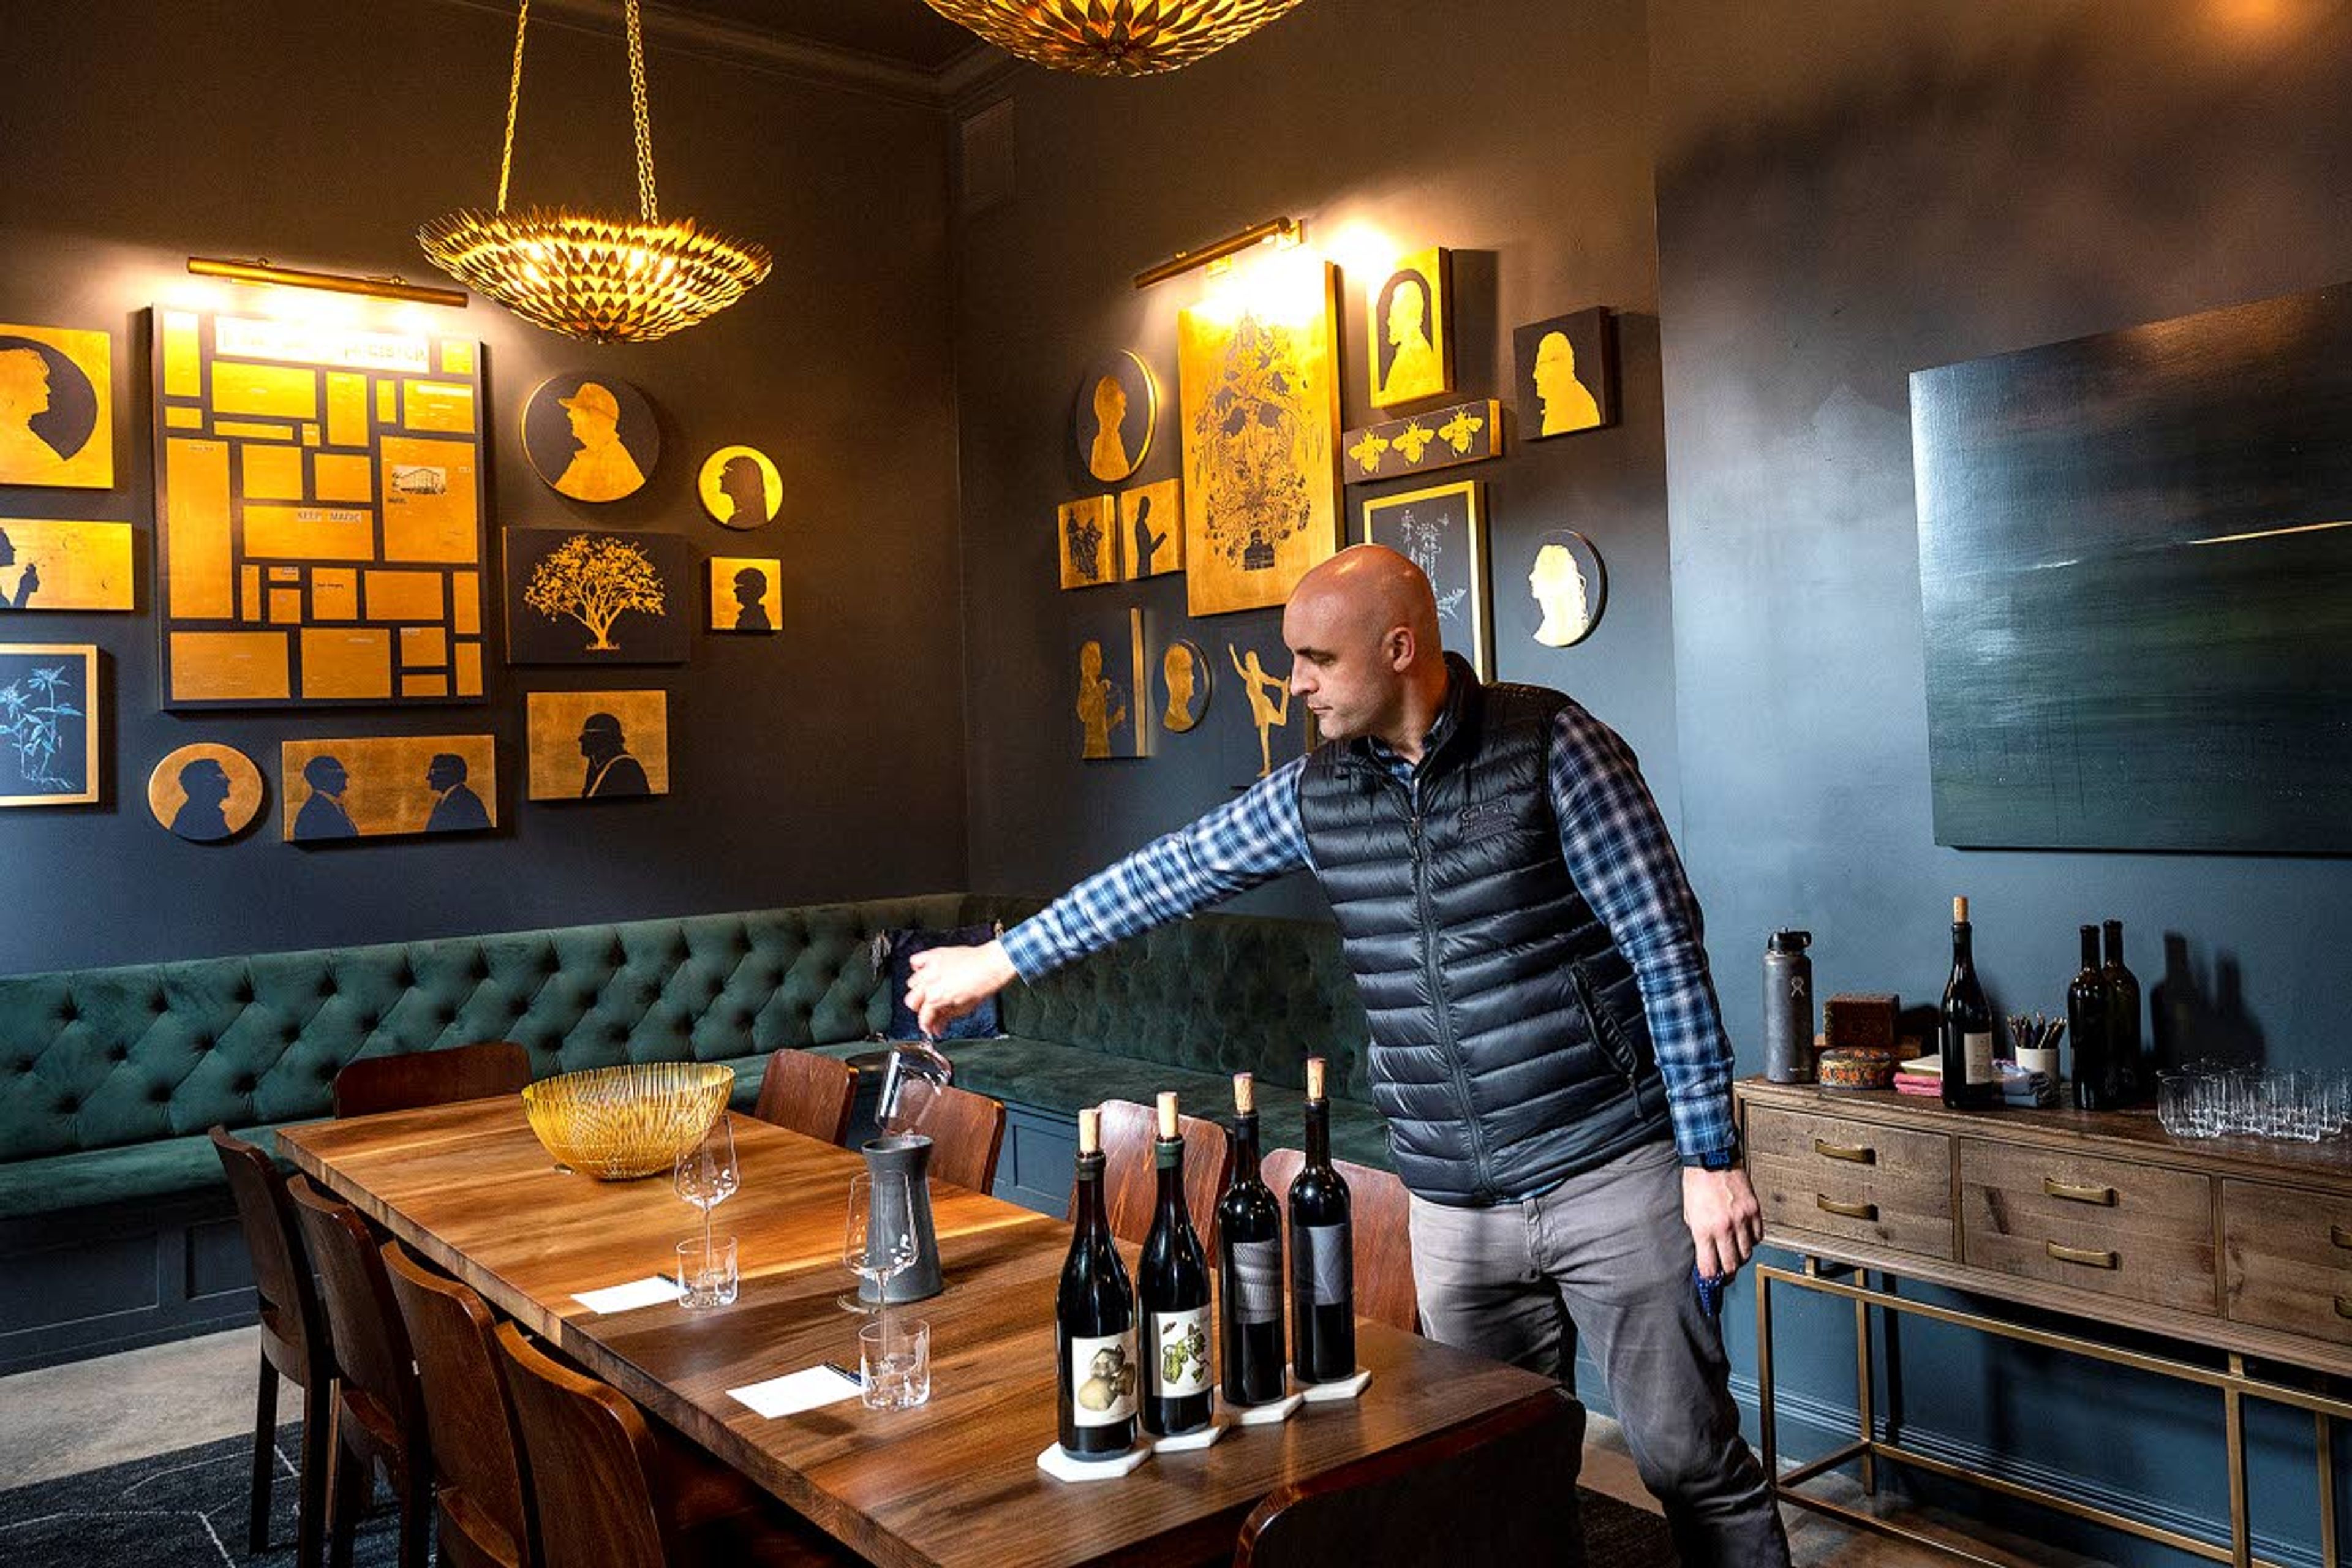
[[[621,1389],[499,1324],[499,1373],[522,1432],[541,1568],[804,1568],[856,1561],[783,1505],[713,1514],[753,1488],[682,1443],[661,1443]],[[684,1474],[682,1474],[684,1472]],[[708,1476],[696,1488],[694,1472]],[[694,1495],[701,1490],[701,1495]],[[696,1516],[701,1514],[701,1516]]]

